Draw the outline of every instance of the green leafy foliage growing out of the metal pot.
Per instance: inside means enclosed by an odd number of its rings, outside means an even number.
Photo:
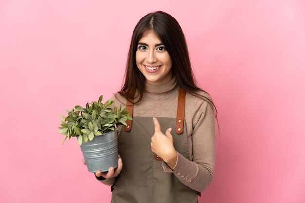
[[[98,101],[87,103],[86,107],[75,106],[71,111],[67,110],[68,116],[61,115],[62,123],[58,133],[65,135],[62,142],[69,137],[78,137],[78,144],[93,140],[94,136],[100,136],[103,133],[118,129],[119,125],[127,126],[126,121],[132,120],[126,108],[110,106],[114,101],[108,100],[102,103],[103,95]]]

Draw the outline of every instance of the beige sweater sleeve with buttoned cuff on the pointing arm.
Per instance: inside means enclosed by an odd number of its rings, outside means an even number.
[[[165,162],[165,172],[174,173],[186,186],[198,192],[204,191],[213,179],[215,163],[215,129],[213,109],[204,102],[192,118],[192,160],[178,153],[172,170]],[[190,146],[190,145],[189,145]]]

